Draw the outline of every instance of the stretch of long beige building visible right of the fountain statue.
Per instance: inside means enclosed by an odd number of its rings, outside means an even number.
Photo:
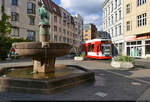
[[[69,43],[78,50],[82,41],[83,18],[79,14],[73,17],[51,0],[43,0],[43,3],[51,15],[51,41]]]

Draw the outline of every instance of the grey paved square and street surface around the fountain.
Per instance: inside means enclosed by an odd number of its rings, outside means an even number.
[[[0,63],[3,66],[31,65],[28,61]],[[138,66],[117,70],[109,60],[74,61],[58,59],[56,64],[79,65],[95,72],[96,81],[51,95],[0,93],[0,100],[150,100],[150,69]],[[148,63],[147,63],[148,64]]]

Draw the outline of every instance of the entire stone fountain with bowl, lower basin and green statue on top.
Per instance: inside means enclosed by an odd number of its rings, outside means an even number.
[[[69,54],[71,45],[49,42],[49,14],[39,8],[40,42],[14,43],[19,56],[31,57],[32,66],[0,69],[0,92],[44,93],[94,81],[94,72],[74,65],[55,65],[56,57]]]

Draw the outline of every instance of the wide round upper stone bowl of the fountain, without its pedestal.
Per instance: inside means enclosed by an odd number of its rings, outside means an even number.
[[[66,43],[47,43],[47,48],[42,47],[41,42],[23,42],[12,45],[19,56],[25,57],[46,57],[54,58],[69,54],[71,45]]]

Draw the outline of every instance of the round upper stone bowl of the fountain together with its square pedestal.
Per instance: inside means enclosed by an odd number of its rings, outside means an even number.
[[[69,54],[72,48],[71,45],[66,43],[50,42],[14,43],[13,47],[19,56],[32,57],[34,72],[43,73],[54,73],[56,57]]]

